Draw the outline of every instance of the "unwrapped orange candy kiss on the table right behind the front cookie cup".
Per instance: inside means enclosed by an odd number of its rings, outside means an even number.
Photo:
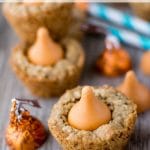
[[[133,71],[127,72],[117,89],[137,104],[139,113],[150,109],[150,90],[137,80]]]

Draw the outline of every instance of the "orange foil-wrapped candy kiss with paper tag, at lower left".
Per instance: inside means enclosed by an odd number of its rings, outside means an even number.
[[[6,143],[13,150],[35,150],[46,140],[43,124],[31,116],[23,105],[40,107],[35,100],[12,99],[10,122],[6,129]]]

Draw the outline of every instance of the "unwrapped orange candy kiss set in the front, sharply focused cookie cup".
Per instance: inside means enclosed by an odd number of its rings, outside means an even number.
[[[82,90],[81,99],[69,112],[68,122],[80,130],[95,130],[111,120],[111,112],[106,104],[99,100],[90,86]]]

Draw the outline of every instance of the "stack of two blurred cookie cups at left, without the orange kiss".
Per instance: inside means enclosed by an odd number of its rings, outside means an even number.
[[[78,41],[80,23],[74,11],[72,3],[3,5],[6,19],[21,39],[11,55],[12,68],[34,95],[58,96],[78,84],[84,66],[84,51]],[[78,25],[73,28],[73,24]],[[27,56],[40,27],[45,27],[64,51],[63,59],[52,66],[34,64]]]

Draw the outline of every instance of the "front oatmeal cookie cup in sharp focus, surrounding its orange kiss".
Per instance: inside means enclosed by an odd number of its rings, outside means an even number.
[[[70,109],[81,98],[83,87],[68,90],[54,105],[48,121],[52,135],[64,150],[121,150],[133,132],[136,105],[112,87],[93,87],[97,98],[110,108],[112,119],[93,131],[78,130],[69,125]]]

